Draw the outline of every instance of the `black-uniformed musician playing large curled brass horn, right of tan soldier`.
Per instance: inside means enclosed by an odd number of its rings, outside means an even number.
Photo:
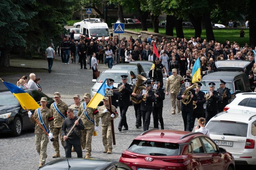
[[[186,88],[188,88],[191,85],[191,80],[190,79],[185,79],[184,80],[185,84],[188,83],[187,87],[181,87],[180,92],[177,96],[178,100],[182,100],[186,98],[186,95],[183,95],[184,91]],[[189,98],[192,98],[191,101],[188,104],[184,104],[181,102],[181,115],[183,118],[184,122],[184,131],[192,131],[193,130],[193,124],[192,124],[192,115],[193,115],[193,101],[197,100],[196,97],[196,91],[194,89],[189,90],[191,92],[191,95]]]

